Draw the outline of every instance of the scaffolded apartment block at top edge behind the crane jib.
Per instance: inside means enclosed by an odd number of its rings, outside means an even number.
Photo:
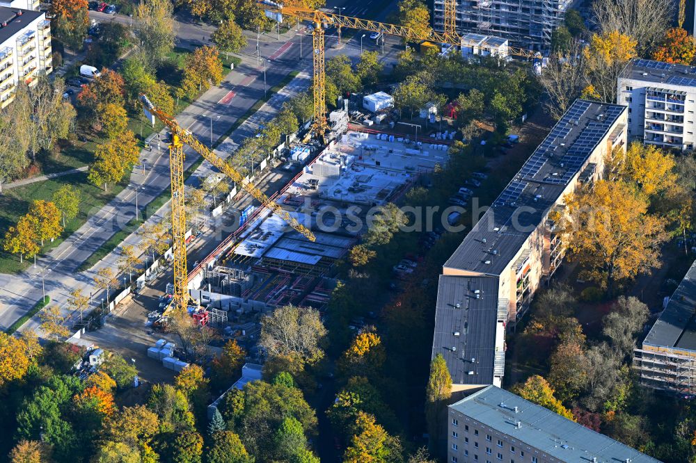
[[[544,51],[562,24],[571,0],[458,0],[455,27],[461,35],[496,35],[511,45]],[[434,0],[434,27],[444,26],[444,0]]]

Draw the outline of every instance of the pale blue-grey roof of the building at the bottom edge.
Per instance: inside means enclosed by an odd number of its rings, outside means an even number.
[[[449,407],[561,462],[592,462],[596,458],[598,463],[659,463],[635,448],[496,386]]]

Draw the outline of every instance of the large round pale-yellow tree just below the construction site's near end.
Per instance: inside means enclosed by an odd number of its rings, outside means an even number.
[[[285,305],[261,320],[259,345],[269,357],[302,371],[305,364],[315,364],[324,357],[321,348],[326,328],[319,312],[308,307]]]

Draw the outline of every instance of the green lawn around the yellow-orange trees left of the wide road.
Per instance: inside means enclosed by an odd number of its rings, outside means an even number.
[[[53,194],[65,184],[76,187],[81,196],[80,211],[76,218],[65,223],[65,229],[59,238],[53,243],[45,243],[41,254],[52,250],[70,236],[72,232],[81,227],[87,218],[99,211],[104,204],[111,201],[129,182],[127,175],[119,184],[111,186],[108,192],[98,188],[87,181],[87,172],[77,172],[76,174],[65,175],[56,179],[37,181],[33,184],[19,186],[11,190],[6,190],[0,196],[0,230],[6,231],[10,226],[17,223],[20,217],[24,216],[33,200],[53,200]],[[19,262],[19,256],[8,254],[0,250],[0,273],[19,273],[33,263],[33,259],[24,259]]]

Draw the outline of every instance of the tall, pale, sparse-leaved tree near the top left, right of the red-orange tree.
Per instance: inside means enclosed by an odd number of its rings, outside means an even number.
[[[168,0],[145,0],[136,7],[134,32],[150,67],[157,67],[174,48],[177,26]]]

